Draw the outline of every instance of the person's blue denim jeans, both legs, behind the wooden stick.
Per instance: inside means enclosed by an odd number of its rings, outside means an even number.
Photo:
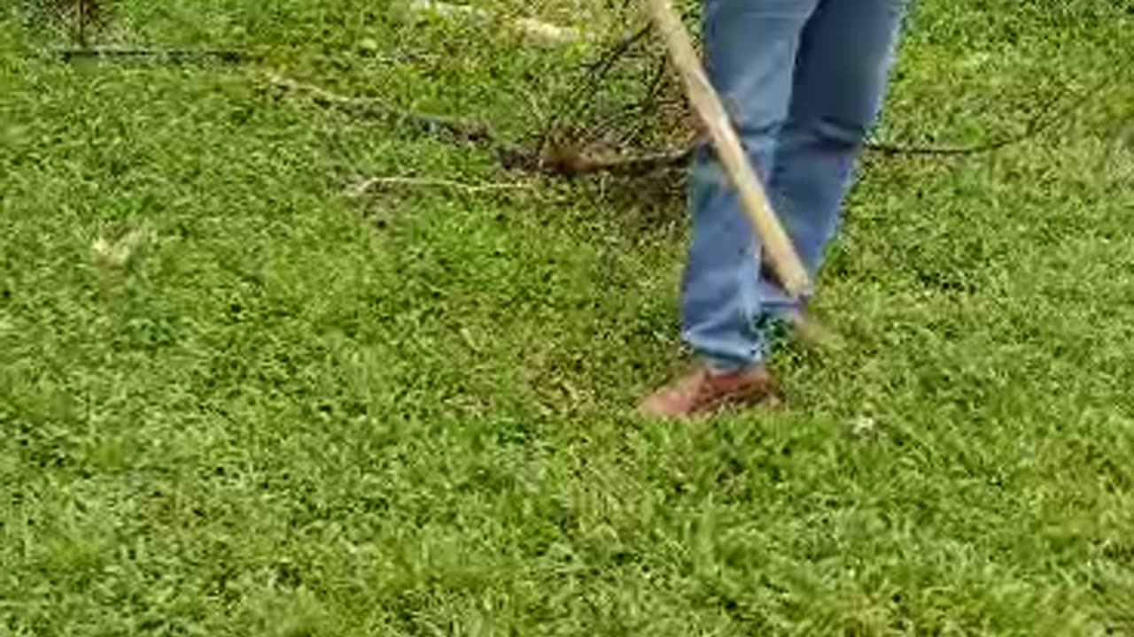
[[[816,273],[878,116],[905,0],[705,0],[705,67],[804,265]],[[685,340],[720,370],[760,364],[769,325],[798,312],[716,153],[691,175]],[[809,292],[810,296],[810,292]]]

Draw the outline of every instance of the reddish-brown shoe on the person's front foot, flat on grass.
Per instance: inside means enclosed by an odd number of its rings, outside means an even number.
[[[649,418],[692,418],[730,407],[776,405],[782,398],[767,367],[717,373],[699,366],[646,398],[638,411]]]

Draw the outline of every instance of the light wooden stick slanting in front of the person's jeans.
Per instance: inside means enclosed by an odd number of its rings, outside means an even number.
[[[801,297],[809,286],[807,270],[799,261],[792,240],[768,203],[768,195],[752,168],[741,138],[725,110],[720,95],[713,90],[701,59],[693,46],[693,39],[674,9],[670,0],[648,0],[650,17],[666,41],[669,56],[677,67],[689,102],[709,130],[717,154],[741,197],[741,203],[767,252],[767,261],[784,289],[793,297]]]

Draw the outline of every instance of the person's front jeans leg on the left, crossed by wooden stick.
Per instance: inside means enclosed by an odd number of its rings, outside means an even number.
[[[804,26],[819,0],[705,0],[705,67],[758,173],[772,165]],[[719,371],[762,362],[760,264],[752,228],[716,153],[691,175],[693,240],[682,281],[683,336]]]

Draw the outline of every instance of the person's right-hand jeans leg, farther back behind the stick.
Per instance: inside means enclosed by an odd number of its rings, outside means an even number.
[[[799,257],[816,273],[887,86],[905,0],[821,0],[796,57],[792,101],[768,178],[770,197]],[[796,309],[767,278],[759,301]]]

